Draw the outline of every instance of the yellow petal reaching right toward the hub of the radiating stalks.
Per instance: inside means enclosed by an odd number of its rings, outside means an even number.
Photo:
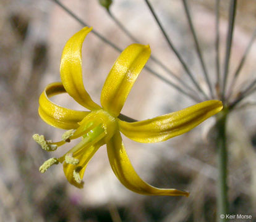
[[[161,142],[192,130],[222,108],[221,101],[205,101],[149,120],[134,123],[119,120],[118,123],[127,138],[137,142]]]

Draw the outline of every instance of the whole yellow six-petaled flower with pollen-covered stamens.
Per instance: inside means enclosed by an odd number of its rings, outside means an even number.
[[[67,41],[61,58],[61,81],[46,86],[39,99],[40,117],[51,126],[66,129],[62,141],[46,141],[43,135],[33,135],[47,151],[56,150],[71,139],[82,140],[60,158],[50,158],[40,167],[44,173],[51,165],[63,163],[69,183],[83,187],[87,163],[104,144],[109,163],[122,184],[131,191],[147,195],[186,195],[177,189],[158,189],[145,183],[135,172],[124,149],[120,131],[137,142],[161,142],[186,133],[202,121],[220,112],[220,101],[205,101],[178,112],[149,120],[126,122],[120,112],[137,76],[150,57],[150,47],[141,44],[128,46],[117,58],[101,91],[101,107],[92,101],[82,80],[81,49],[85,36],[92,28],[85,27]],[[70,110],[54,104],[49,97],[67,92],[80,105],[91,110]]]

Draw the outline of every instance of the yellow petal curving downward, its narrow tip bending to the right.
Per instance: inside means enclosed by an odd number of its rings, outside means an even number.
[[[132,167],[119,131],[109,140],[107,149],[109,162],[115,175],[130,191],[145,195],[189,195],[186,191],[159,189],[145,183]]]

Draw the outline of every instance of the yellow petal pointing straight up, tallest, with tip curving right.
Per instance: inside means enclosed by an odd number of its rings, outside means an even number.
[[[67,93],[83,107],[96,110],[100,109],[100,106],[93,102],[85,91],[82,76],[82,44],[91,30],[92,28],[85,27],[67,41],[62,52],[60,72]]]

